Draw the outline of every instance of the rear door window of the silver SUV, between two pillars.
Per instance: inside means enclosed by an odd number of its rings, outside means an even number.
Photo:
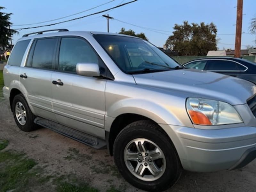
[[[38,39],[34,42],[28,56],[28,67],[52,69],[52,60],[57,44],[57,38]],[[33,56],[31,56],[33,54]]]

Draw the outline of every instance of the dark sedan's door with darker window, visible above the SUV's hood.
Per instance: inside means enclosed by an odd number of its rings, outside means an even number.
[[[208,60],[205,70],[236,77],[243,73],[246,67],[232,60]]]

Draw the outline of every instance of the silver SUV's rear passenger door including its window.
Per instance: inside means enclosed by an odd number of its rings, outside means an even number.
[[[20,86],[36,116],[56,121],[52,113],[51,76],[58,38],[35,39],[25,67],[20,69]]]

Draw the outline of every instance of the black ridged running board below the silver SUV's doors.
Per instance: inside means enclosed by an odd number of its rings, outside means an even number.
[[[88,135],[84,132],[77,131],[75,129],[66,127],[64,125],[55,123],[53,121],[41,118],[41,117],[36,117],[34,120],[35,124],[41,125],[45,128],[51,129],[52,131],[58,132],[64,136],[67,136],[71,139],[77,140],[81,143],[84,143],[86,145],[89,145],[93,148],[96,149],[101,149],[106,147],[106,141],[99,139],[97,137],[93,137],[91,135]]]

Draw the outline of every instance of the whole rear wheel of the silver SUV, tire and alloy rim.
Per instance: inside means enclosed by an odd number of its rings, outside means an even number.
[[[16,105],[19,107],[16,107]],[[23,109],[25,110],[25,112],[23,111]],[[16,116],[17,113],[21,114],[20,111],[23,111],[22,117],[20,117],[21,115]],[[20,128],[20,130],[25,132],[30,132],[37,128],[37,125],[34,123],[35,116],[33,115],[30,108],[28,107],[28,103],[22,94],[18,94],[13,98],[12,113],[13,113],[14,120],[17,126]],[[19,119],[21,118],[22,121],[19,121],[18,118]]]

